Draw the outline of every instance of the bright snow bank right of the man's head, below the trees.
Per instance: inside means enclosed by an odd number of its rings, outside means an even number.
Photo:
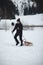
[[[43,25],[43,14],[16,16],[17,18],[20,18],[24,25]]]

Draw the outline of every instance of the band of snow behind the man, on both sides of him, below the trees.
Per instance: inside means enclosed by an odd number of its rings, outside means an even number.
[[[16,23],[17,19],[20,18],[23,25],[43,25],[43,14],[36,14],[36,15],[27,15],[27,16],[17,16],[15,15],[16,19],[2,19],[0,20],[0,28],[2,29],[11,29],[11,23]]]

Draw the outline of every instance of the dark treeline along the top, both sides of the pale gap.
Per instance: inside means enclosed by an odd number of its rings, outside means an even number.
[[[43,13],[43,0],[32,1],[37,3],[37,7],[25,7],[24,15]],[[0,0],[0,19],[15,19],[15,14],[19,15],[18,8],[11,0]]]

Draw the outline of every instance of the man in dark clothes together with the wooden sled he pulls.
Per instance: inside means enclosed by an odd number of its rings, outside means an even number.
[[[12,23],[12,25],[14,26],[13,23]],[[25,45],[25,46],[32,45],[31,42],[26,42],[26,40],[25,40],[25,41],[22,40],[23,25],[22,25],[22,23],[21,23],[21,21],[20,21],[20,18],[17,19],[17,23],[16,23],[14,29],[12,30],[12,33],[13,33],[15,30],[16,30],[16,33],[15,33],[14,39],[15,39],[15,41],[16,41],[16,45],[19,44],[19,41],[18,41],[18,39],[17,39],[17,36],[19,36],[20,41],[21,41],[21,45],[20,45],[20,46],[22,46],[22,45]],[[24,42],[24,43],[23,43],[23,42]]]

